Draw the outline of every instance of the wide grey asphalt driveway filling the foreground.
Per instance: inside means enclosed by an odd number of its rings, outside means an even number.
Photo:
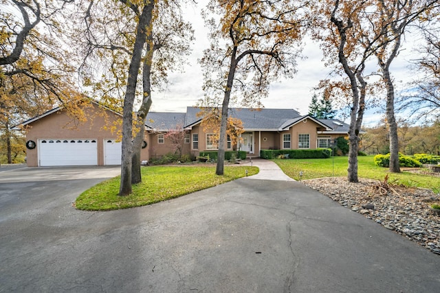
[[[0,172],[0,292],[440,288],[438,255],[302,183],[241,178],[147,207],[86,212],[72,207],[76,196],[118,169],[80,170]]]

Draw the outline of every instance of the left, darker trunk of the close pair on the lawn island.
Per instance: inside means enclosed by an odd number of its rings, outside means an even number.
[[[142,49],[146,41],[146,29],[151,24],[153,15],[154,1],[145,3],[142,14],[137,24],[135,44],[133,46],[133,56],[131,56],[129,77],[127,78],[126,93],[124,97],[124,109],[122,114],[122,163],[121,163],[121,184],[119,189],[120,196],[131,194],[131,162],[133,155],[133,102],[137,84],[137,75],[142,59]]]

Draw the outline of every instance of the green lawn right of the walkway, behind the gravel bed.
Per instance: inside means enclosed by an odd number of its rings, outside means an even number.
[[[335,156],[330,159],[274,159],[276,164],[283,169],[289,177],[299,180],[300,171],[303,172],[303,180],[331,177],[347,176],[349,161],[347,156]],[[430,175],[415,174],[410,172],[390,173],[388,168],[378,167],[374,164],[373,156],[358,157],[358,176],[360,178],[370,178],[384,180],[388,174],[388,182],[405,185],[407,187],[423,187],[432,189],[434,192],[440,190],[440,178]]]

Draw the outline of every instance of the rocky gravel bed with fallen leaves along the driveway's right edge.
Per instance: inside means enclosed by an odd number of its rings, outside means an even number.
[[[431,190],[391,184],[386,190],[380,188],[380,180],[365,178],[359,183],[349,183],[345,177],[302,183],[440,255],[440,216],[430,210],[430,204],[440,202],[440,196]]]

